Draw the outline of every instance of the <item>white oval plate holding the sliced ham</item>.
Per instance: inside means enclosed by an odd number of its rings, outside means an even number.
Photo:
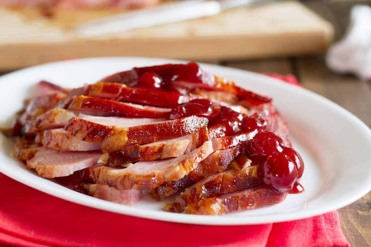
[[[147,58],[99,58],[50,63],[0,77],[0,118],[5,122],[22,107],[30,87],[50,80],[65,87],[80,87],[134,66],[181,61]],[[357,117],[311,91],[256,73],[202,64],[203,69],[233,80],[238,86],[273,97],[289,124],[293,146],[302,155],[305,192],[289,195],[272,207],[246,210],[223,216],[167,213],[159,203],[145,197],[135,206],[123,206],[59,186],[29,171],[12,157],[12,145],[0,135],[0,171],[37,190],[65,200],[120,214],[164,221],[237,225],[305,218],[352,203],[371,189],[371,131]]]

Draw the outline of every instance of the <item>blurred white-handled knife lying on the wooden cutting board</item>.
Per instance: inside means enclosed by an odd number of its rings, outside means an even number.
[[[183,0],[150,9],[132,11],[90,21],[75,27],[72,31],[80,37],[117,33],[141,27],[213,16],[223,10],[266,0]]]

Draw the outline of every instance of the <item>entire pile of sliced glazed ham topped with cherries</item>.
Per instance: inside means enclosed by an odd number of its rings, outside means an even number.
[[[124,205],[174,195],[164,210],[219,215],[303,191],[303,160],[272,99],[196,63],[136,67],[72,90],[41,81],[2,132],[39,176]]]

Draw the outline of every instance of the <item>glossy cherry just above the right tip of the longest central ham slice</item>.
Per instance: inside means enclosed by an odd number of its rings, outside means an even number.
[[[213,113],[211,102],[206,99],[191,100],[188,103],[183,103],[173,108],[170,112],[170,119],[178,119],[192,115],[210,116]]]

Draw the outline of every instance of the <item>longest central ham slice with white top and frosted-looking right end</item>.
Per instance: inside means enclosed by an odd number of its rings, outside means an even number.
[[[206,126],[207,122],[206,118],[196,116],[169,121],[85,116],[72,118],[65,130],[83,141],[102,143],[105,152],[114,152],[127,145],[185,136]]]

